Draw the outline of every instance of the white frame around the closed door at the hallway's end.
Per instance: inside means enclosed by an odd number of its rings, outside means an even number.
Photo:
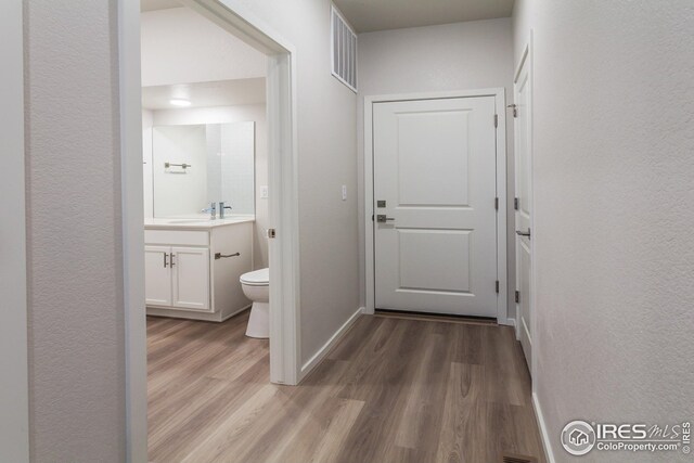
[[[510,321],[507,317],[506,298],[506,120],[504,117],[505,90],[503,88],[364,97],[364,248],[367,254],[367,308],[364,313],[373,313],[375,310],[374,221],[372,219],[375,214],[373,210],[373,105],[384,102],[472,97],[493,97],[498,115],[497,197],[499,197],[499,211],[497,214],[497,278],[499,280],[499,294],[497,296],[497,320],[500,324],[513,324],[513,321]],[[492,124],[492,121],[490,120],[489,124]]]

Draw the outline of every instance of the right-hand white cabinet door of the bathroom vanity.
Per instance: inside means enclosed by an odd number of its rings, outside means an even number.
[[[209,311],[209,249],[171,247],[171,306]]]

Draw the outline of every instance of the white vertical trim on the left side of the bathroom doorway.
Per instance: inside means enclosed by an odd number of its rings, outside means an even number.
[[[126,356],[126,458],[147,458],[146,319],[144,308],[144,200],[140,1],[118,2],[123,286]]]

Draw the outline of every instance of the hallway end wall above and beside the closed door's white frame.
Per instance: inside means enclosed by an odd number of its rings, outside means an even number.
[[[363,98],[503,87],[513,98],[511,18],[414,27],[359,35],[359,189],[363,191]],[[502,116],[502,115],[500,115]],[[507,120],[507,204],[513,205],[513,119]],[[364,290],[363,198],[359,201],[360,294]],[[509,287],[515,282],[513,208],[507,211]],[[509,291],[513,309],[513,291]],[[513,311],[510,313],[514,316]]]

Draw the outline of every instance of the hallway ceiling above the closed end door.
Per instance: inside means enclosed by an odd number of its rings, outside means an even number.
[[[334,2],[357,33],[371,33],[510,17],[514,0],[334,0]]]

